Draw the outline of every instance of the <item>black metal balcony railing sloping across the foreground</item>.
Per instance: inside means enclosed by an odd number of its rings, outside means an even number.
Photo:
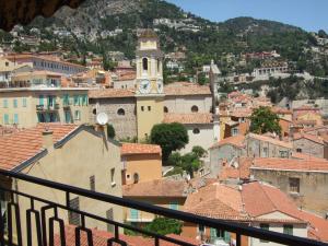
[[[3,185],[0,185],[0,190],[5,192],[8,197],[10,198],[8,202],[8,223],[7,223],[7,230],[4,226],[4,218],[2,216],[2,212],[0,212],[0,246],[7,246],[7,245],[14,245],[13,238],[15,238],[16,244],[19,246],[23,245],[22,242],[22,230],[25,230],[26,237],[27,237],[27,246],[31,245],[38,245],[38,246],[54,246],[55,245],[55,230],[54,225],[55,223],[59,224],[59,232],[58,236],[60,238],[60,245],[66,245],[66,230],[65,230],[65,221],[59,218],[58,211],[65,210],[70,211],[75,214],[79,214],[80,216],[80,226],[75,227],[75,245],[80,245],[80,235],[81,233],[86,233],[87,238],[87,245],[93,245],[93,231],[90,229],[86,229],[85,226],[85,219],[93,219],[97,220],[104,223],[107,223],[108,225],[114,226],[114,236],[113,238],[107,239],[107,245],[110,246],[113,243],[117,243],[119,245],[128,245],[126,242],[124,242],[120,238],[119,235],[119,229],[127,229],[133,232],[137,232],[139,234],[142,234],[144,236],[153,238],[154,245],[159,246],[161,245],[161,242],[169,242],[176,245],[181,246],[194,246],[190,243],[183,242],[180,239],[176,239],[173,237],[160,235],[153,232],[144,231],[139,227],[131,226],[129,224],[124,224],[117,221],[104,219],[102,216],[72,209],[69,206],[70,196],[71,195],[79,195],[82,197],[86,197],[89,199],[94,199],[98,202],[108,202],[116,206],[121,206],[126,208],[132,208],[138,209],[141,211],[145,211],[149,213],[163,215],[167,218],[174,218],[179,221],[195,223],[198,225],[203,225],[207,227],[212,227],[216,230],[222,230],[231,233],[235,233],[236,235],[236,245],[242,245],[242,235],[259,238],[262,241],[269,241],[273,243],[279,243],[282,245],[295,245],[295,246],[311,246],[311,245],[318,245],[318,246],[328,246],[328,244],[320,243],[317,241],[312,241],[308,238],[297,237],[297,236],[291,236],[286,234],[281,234],[277,232],[271,231],[265,231],[257,227],[250,227],[248,225],[245,225],[243,223],[233,223],[233,222],[226,222],[223,220],[215,220],[204,216],[195,215],[191,213],[186,213],[177,210],[171,210],[162,207],[152,206],[145,202],[134,201],[130,199],[124,199],[119,197],[114,197],[105,194],[99,194],[69,185],[63,185],[59,183],[54,183],[50,180],[40,179],[37,177],[27,176],[24,174],[19,173],[12,173],[8,171],[0,171],[0,178],[9,178],[11,180],[24,180],[27,183],[32,183],[36,186],[43,186],[51,189],[56,189],[58,191],[62,191],[66,195],[66,203],[60,204],[50,200],[43,199],[40,197],[37,197],[35,195],[25,194],[19,190],[14,190],[12,188],[5,188]],[[13,183],[14,184],[14,183]],[[26,224],[22,224],[21,215],[22,215],[22,208],[20,207],[19,197],[24,197],[24,199],[30,199],[31,207],[26,209],[24,212],[26,214]],[[35,202],[43,203],[44,206],[37,210]],[[54,211],[54,216],[47,218],[46,212],[47,211]],[[32,230],[32,224],[35,224],[34,231]],[[13,233],[15,231],[15,233]],[[5,235],[5,236],[4,236]],[[36,238],[37,244],[32,243],[32,237]]]

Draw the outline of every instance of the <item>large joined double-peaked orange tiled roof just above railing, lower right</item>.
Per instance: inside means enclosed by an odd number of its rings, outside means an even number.
[[[301,211],[281,190],[258,181],[244,184],[239,188],[214,183],[188,196],[184,210],[222,220],[248,222],[309,223],[308,237],[327,242],[328,221]],[[290,218],[267,216],[281,212]]]

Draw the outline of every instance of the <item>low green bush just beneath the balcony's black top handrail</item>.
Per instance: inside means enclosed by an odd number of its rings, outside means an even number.
[[[156,218],[151,223],[147,224],[144,229],[161,235],[180,234],[183,222],[169,218]]]

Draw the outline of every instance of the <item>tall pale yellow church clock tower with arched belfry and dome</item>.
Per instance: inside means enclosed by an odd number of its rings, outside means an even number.
[[[136,55],[137,128],[138,139],[142,140],[164,118],[163,52],[153,31],[140,34]]]

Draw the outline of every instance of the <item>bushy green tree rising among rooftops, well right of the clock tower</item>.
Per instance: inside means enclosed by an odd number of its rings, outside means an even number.
[[[255,109],[250,116],[251,132],[263,134],[266,132],[276,132],[280,134],[281,127],[279,125],[279,117],[271,112],[270,107],[259,107]]]

